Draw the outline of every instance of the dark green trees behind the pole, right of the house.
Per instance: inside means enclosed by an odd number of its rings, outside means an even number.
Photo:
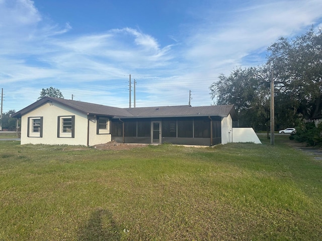
[[[220,74],[209,87],[214,103],[234,104],[239,127],[268,130],[273,69],[275,129],[322,118],[322,29],[311,27],[294,39],[280,38],[267,50],[263,65]]]

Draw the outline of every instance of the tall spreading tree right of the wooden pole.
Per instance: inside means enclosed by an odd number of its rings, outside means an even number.
[[[277,98],[286,112],[305,119],[322,114],[322,29],[293,40],[280,38],[268,51],[268,64],[274,68]]]

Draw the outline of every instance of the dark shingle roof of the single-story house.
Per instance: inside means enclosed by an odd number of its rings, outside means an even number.
[[[183,117],[183,116],[221,116],[231,115],[236,119],[236,113],[233,105],[211,105],[211,106],[159,106],[159,107],[139,107],[139,108],[117,108],[101,104],[93,104],[82,101],[75,101],[62,98],[44,97],[31,105],[18,111],[13,117],[21,117],[23,114],[47,103],[56,102],[68,106],[86,114],[105,115],[115,118],[133,118],[133,117]]]

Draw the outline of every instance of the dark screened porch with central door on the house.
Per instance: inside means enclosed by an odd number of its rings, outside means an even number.
[[[212,146],[221,143],[221,117],[114,118],[112,141]]]

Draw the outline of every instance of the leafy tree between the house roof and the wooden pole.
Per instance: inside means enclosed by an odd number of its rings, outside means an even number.
[[[270,78],[265,66],[236,68],[229,76],[220,74],[210,86],[215,104],[233,104],[239,127],[266,129],[270,116]]]

